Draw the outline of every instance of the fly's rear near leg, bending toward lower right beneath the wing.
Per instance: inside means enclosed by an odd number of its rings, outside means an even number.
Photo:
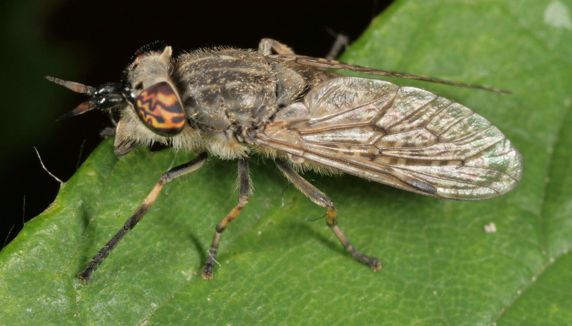
[[[340,229],[339,226],[337,226],[337,209],[333,205],[332,200],[328,198],[328,196],[326,196],[323,192],[310,184],[310,182],[301,177],[300,174],[292,169],[285,161],[276,158],[275,162],[278,168],[284,173],[288,180],[296,186],[296,188],[308,196],[317,205],[326,208],[326,223],[328,224],[329,228],[332,229],[333,234],[336,234],[336,237],[340,240],[344,248],[347,249],[353,257],[364,264],[370,265],[374,271],[382,268],[382,262],[379,259],[363,255],[349,242],[344,232]]]

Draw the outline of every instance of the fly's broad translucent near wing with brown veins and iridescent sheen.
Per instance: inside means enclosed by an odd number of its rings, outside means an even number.
[[[439,198],[500,196],[523,171],[518,149],[479,114],[427,90],[378,79],[323,82],[253,138],[266,148]]]

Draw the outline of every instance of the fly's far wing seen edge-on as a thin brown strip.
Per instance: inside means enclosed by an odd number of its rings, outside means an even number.
[[[279,61],[294,61],[296,63],[299,63],[300,65],[318,67],[318,68],[322,68],[322,69],[343,69],[343,70],[349,70],[349,71],[356,71],[358,73],[366,73],[366,74],[372,74],[372,75],[384,75],[384,76],[399,77],[399,78],[419,79],[422,81],[437,82],[439,84],[445,84],[445,85],[454,85],[454,86],[461,86],[461,87],[466,87],[466,88],[482,89],[482,90],[487,90],[489,92],[495,92],[495,93],[501,93],[501,94],[512,94],[512,92],[509,92],[507,90],[496,89],[496,88],[492,88],[492,87],[488,87],[488,86],[463,84],[460,82],[445,81],[443,79],[436,79],[436,78],[420,76],[420,75],[412,75],[412,74],[398,73],[395,71],[372,69],[372,68],[368,68],[368,67],[356,66],[356,65],[352,65],[351,63],[345,63],[345,62],[340,62],[340,61],[335,61],[335,60],[306,57],[305,55],[271,54],[271,55],[268,55],[267,57],[270,59],[279,60]]]

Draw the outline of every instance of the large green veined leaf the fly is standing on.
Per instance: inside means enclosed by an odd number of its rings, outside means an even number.
[[[104,141],[55,202],[0,252],[2,324],[565,324],[572,320],[570,1],[398,1],[343,56],[378,69],[509,89],[410,80],[487,117],[521,149],[525,176],[494,200],[459,202],[356,177],[307,173],[336,203],[323,215],[264,160],[256,192],[224,232],[215,279],[200,271],[236,205],[236,162],[212,159],[165,186],[89,285],[76,279],[161,173],[192,154]],[[295,45],[291,45],[294,46]],[[258,162],[258,163],[257,163]],[[257,164],[256,164],[257,163]],[[483,226],[493,222],[495,233]]]

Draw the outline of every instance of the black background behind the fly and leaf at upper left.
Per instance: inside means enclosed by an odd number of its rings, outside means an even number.
[[[271,37],[297,53],[324,57],[335,40],[328,30],[354,41],[388,2],[9,1],[0,13],[0,245],[58,192],[59,183],[42,169],[33,146],[46,168],[66,181],[100,143],[100,130],[110,126],[102,112],[55,122],[84,97],[43,81],[43,75],[93,86],[118,81],[134,51],[157,39],[178,54],[204,46],[256,48]]]

